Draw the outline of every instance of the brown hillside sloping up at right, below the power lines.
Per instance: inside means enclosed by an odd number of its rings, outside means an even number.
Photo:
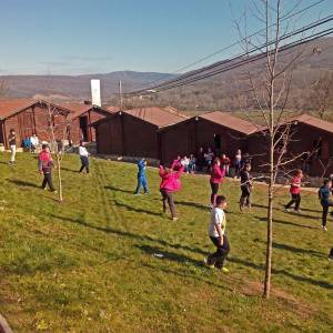
[[[314,83],[327,73],[333,73],[333,37],[309,42],[305,46],[282,52],[279,56],[280,68],[285,67],[300,51],[302,56],[293,69],[289,107],[299,110],[312,110],[316,105]],[[239,110],[239,92],[250,91],[248,71],[258,82],[263,82],[265,60],[252,62],[245,67],[230,70],[210,79],[152,95],[151,103],[159,105],[172,104],[180,110]],[[260,83],[259,83],[260,84]],[[331,89],[333,100],[333,87]],[[243,93],[242,99],[248,108],[256,109],[251,93]],[[333,102],[331,103],[333,109]]]

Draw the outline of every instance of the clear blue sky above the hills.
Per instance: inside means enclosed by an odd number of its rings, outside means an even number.
[[[235,41],[233,18],[246,8],[248,30],[260,29],[262,22],[249,10],[251,1],[0,0],[0,74],[174,72]],[[303,0],[299,8],[316,1]],[[297,0],[284,2],[290,7]],[[299,24],[330,11],[333,0]]]

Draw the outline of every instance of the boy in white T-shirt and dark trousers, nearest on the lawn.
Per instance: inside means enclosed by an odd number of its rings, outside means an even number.
[[[224,261],[230,252],[230,245],[225,233],[225,196],[218,195],[216,205],[212,210],[211,222],[209,225],[209,235],[213,244],[216,246],[216,252],[208,256],[206,264],[210,266],[215,266],[218,270],[222,270],[222,272],[228,273],[229,270],[224,268]]]

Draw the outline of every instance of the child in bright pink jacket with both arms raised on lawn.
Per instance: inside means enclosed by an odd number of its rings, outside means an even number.
[[[178,220],[173,201],[173,192],[179,191],[181,189],[181,182],[179,178],[182,174],[183,170],[184,168],[181,167],[176,172],[173,172],[171,169],[160,165],[159,174],[162,179],[160,184],[160,192],[162,194],[163,213],[167,213],[168,202],[173,221]]]

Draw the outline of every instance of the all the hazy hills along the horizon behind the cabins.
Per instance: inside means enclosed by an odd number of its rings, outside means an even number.
[[[297,47],[281,53],[280,63],[287,63],[301,48]],[[303,54],[293,72],[293,81],[290,90],[290,105],[293,109],[313,109],[311,97],[313,83],[321,75],[333,72],[333,37],[320,39],[302,47]],[[259,73],[265,68],[264,61],[253,62],[202,80],[182,88],[176,88],[163,93],[153,94],[149,99],[137,99],[127,101],[129,107],[145,105],[172,105],[179,110],[239,110],[238,90],[249,90],[249,83],[244,80],[248,70],[260,80]],[[8,95],[11,98],[30,98],[52,95],[54,100],[90,99],[90,79],[101,80],[102,100],[109,103],[118,103],[112,93],[118,92],[119,80],[122,81],[125,92],[149,87],[157,82],[163,82],[175,78],[174,74],[155,72],[122,71],[107,74],[89,75],[8,75],[0,77],[9,85]],[[248,107],[255,109],[253,99],[246,98]]]

